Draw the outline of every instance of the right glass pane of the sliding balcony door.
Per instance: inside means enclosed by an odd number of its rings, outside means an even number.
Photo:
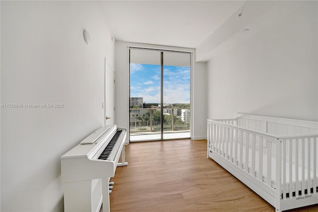
[[[190,53],[163,53],[163,139],[190,137]]]

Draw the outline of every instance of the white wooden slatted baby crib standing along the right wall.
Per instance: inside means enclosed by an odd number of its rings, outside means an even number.
[[[207,138],[208,158],[277,212],[318,204],[318,122],[239,113],[208,120]]]

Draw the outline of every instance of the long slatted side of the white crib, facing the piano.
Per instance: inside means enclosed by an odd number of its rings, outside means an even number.
[[[208,120],[209,147],[260,181],[272,186],[272,143],[276,143],[277,137],[221,121]],[[267,158],[263,157],[263,143],[267,144]],[[264,173],[268,176],[264,176]]]

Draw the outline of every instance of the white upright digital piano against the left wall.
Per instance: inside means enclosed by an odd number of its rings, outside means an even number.
[[[126,129],[106,125],[61,157],[65,212],[109,212],[109,194],[117,166],[126,166]],[[118,163],[120,154],[122,162]]]

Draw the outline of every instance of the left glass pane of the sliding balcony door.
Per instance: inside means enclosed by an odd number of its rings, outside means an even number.
[[[160,52],[130,50],[130,140],[161,139]]]

